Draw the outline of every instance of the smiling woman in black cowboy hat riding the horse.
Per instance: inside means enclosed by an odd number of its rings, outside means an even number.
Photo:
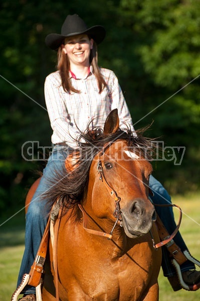
[[[47,76],[45,81],[45,99],[53,129],[54,148],[28,209],[25,252],[18,284],[23,274],[30,271],[47,223],[50,208],[43,194],[50,188],[52,176],[63,168],[67,150],[77,148],[77,128],[84,131],[91,120],[92,126],[103,126],[108,113],[117,108],[120,127],[123,128],[126,123],[134,131],[117,77],[111,70],[99,68],[97,64],[96,45],[104,37],[105,29],[102,26],[87,28],[79,16],[69,15],[62,26],[61,35],[50,34],[46,38],[46,44],[58,51],[58,70]],[[153,202],[170,202],[166,190],[153,177],[150,179],[150,187],[155,192]],[[172,210],[165,209],[163,214],[159,211],[159,215],[171,233],[175,226]],[[181,250],[186,249],[180,234],[175,241]],[[167,252],[164,252],[162,267],[166,276],[175,274]],[[200,272],[195,271],[189,261],[181,266],[181,271],[188,284],[200,280]],[[23,293],[21,301],[36,299],[35,287],[27,285]]]

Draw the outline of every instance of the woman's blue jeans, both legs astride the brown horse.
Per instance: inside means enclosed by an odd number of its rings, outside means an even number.
[[[65,153],[66,147],[55,146],[53,153],[48,160],[48,164],[43,172],[43,177],[40,181],[40,184],[34,194],[34,197],[29,205],[29,209],[26,216],[26,234],[25,234],[25,252],[22,259],[22,264],[20,268],[18,285],[22,281],[22,277],[25,273],[29,273],[31,265],[34,262],[40,242],[42,240],[43,233],[47,224],[48,215],[50,212],[48,206],[48,200],[44,199],[44,192],[46,192],[51,187],[51,179],[56,175],[56,171],[60,171],[64,166],[64,159],[67,157]],[[150,188],[154,193],[154,197],[151,197],[152,201],[155,204],[164,204],[171,202],[170,197],[167,191],[163,186],[152,176],[150,177]],[[156,211],[161,218],[163,224],[169,233],[172,233],[174,230],[175,222],[173,217],[172,208],[160,208],[157,207]],[[174,238],[176,244],[185,250],[186,245],[178,232]],[[175,274],[174,268],[171,265],[168,252],[165,248],[162,248],[162,269],[165,276]],[[193,269],[194,265],[190,262],[182,264],[181,270]],[[27,285],[22,293],[35,293],[36,289],[33,286]]]

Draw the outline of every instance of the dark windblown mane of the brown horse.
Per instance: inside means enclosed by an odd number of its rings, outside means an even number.
[[[91,163],[94,157],[102,152],[109,143],[126,140],[128,147],[135,147],[136,154],[139,153],[140,156],[142,154],[145,159],[151,161],[152,139],[143,136],[148,127],[135,132],[131,132],[128,127],[123,130],[119,128],[116,132],[105,135],[102,128],[90,128],[88,125],[86,131],[80,132],[80,136],[76,140],[79,148],[67,150],[67,156],[75,155],[79,158],[73,170],[67,172],[63,162],[62,171],[57,171],[56,176],[51,179],[52,187],[44,196],[48,199],[48,203],[52,206],[55,200],[59,200],[60,207],[67,209],[80,203],[87,192]],[[83,140],[85,142],[82,142]],[[151,151],[148,152],[148,149]]]

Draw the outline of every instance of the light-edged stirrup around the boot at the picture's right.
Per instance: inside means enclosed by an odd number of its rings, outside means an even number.
[[[197,266],[200,267],[200,261],[198,261],[197,259],[195,259],[194,257],[191,256],[191,254],[189,253],[189,251],[185,250],[183,251],[184,256],[192,263],[196,264]],[[196,283],[196,284],[186,284],[182,278],[182,274],[181,274],[181,270],[180,270],[180,265],[178,264],[178,262],[175,259],[171,260],[173,266],[175,267],[176,273],[177,273],[177,277],[178,277],[178,281],[180,283],[180,286],[183,289],[186,290],[197,290],[200,288],[200,282]]]

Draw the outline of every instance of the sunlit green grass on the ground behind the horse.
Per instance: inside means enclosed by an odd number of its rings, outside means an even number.
[[[180,232],[193,256],[200,259],[200,198],[197,194],[185,197],[174,197],[173,203],[183,212]],[[174,211],[176,220],[178,212]],[[1,221],[2,224],[4,221]],[[16,281],[24,251],[24,216],[22,213],[13,217],[0,227],[0,301],[10,301],[16,288]],[[163,277],[159,275],[160,301],[197,301],[200,290],[174,292]]]

